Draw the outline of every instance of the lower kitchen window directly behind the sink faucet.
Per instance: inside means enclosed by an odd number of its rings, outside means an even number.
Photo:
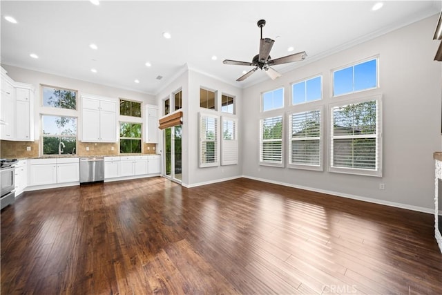
[[[75,155],[77,147],[77,118],[42,115],[44,155]]]

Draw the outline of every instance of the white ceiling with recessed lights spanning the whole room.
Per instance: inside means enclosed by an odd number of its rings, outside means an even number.
[[[1,1],[1,63],[155,94],[186,65],[238,87],[269,79],[257,71],[236,82],[275,39],[273,59],[305,50],[281,73],[441,11],[441,1]],[[10,15],[17,23],[3,17]],[[436,26],[436,23],[434,23]],[[171,39],[162,33],[171,32]],[[278,37],[279,36],[279,37]],[[93,50],[89,44],[97,44]],[[294,47],[289,53],[287,48]],[[29,57],[35,53],[39,59]],[[211,57],[216,55],[217,60]],[[151,62],[150,68],[146,61]],[[96,68],[97,73],[92,73]],[[158,75],[163,76],[157,80]],[[136,84],[135,79],[140,83]]]

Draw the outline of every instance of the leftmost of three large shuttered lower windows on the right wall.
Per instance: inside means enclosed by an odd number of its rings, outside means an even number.
[[[260,121],[260,164],[282,166],[282,116]]]

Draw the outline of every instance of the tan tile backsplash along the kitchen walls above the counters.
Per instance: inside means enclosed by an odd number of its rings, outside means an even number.
[[[30,151],[27,150],[30,147]],[[86,151],[86,147],[89,151]],[[113,148],[113,149],[112,149]],[[144,154],[154,154],[156,144],[143,144]],[[119,155],[117,143],[77,142],[77,155]],[[10,142],[0,140],[0,158],[37,158],[39,157],[39,141],[35,142]]]

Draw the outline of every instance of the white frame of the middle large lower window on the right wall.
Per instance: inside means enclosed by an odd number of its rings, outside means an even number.
[[[309,111],[319,111],[320,112],[320,126],[319,126],[319,137],[293,137],[292,136],[292,115],[297,113],[305,113]],[[288,116],[288,122],[289,122],[289,136],[287,140],[287,166],[291,169],[305,169],[305,170],[314,170],[314,171],[324,171],[324,106],[309,106],[309,105],[302,105],[302,107],[296,108],[296,111],[290,111],[287,113]],[[294,141],[298,140],[319,140],[319,165],[313,165],[313,164],[297,164],[293,163],[291,161],[291,144]]]

